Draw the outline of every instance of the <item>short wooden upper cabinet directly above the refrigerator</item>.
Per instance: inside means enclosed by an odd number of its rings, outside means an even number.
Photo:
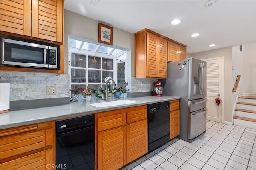
[[[181,61],[187,58],[187,47],[168,41],[168,61]]]

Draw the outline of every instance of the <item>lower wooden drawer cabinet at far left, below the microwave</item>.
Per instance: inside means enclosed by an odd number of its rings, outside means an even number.
[[[2,129],[0,137],[1,170],[46,170],[55,165],[54,121]]]

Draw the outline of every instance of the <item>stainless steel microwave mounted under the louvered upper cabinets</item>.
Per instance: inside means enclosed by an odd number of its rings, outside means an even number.
[[[60,45],[1,34],[1,65],[60,69]]]

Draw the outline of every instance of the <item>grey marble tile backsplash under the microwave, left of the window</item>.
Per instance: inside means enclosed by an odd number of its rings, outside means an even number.
[[[1,71],[0,76],[2,83],[10,83],[10,101],[70,95],[69,74]],[[56,95],[46,95],[46,86],[56,86]]]

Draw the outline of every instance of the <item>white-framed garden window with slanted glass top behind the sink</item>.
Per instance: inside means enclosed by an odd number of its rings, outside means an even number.
[[[69,35],[70,88],[91,85],[105,88],[104,78],[112,77],[118,87],[126,80],[126,50],[105,46]]]

